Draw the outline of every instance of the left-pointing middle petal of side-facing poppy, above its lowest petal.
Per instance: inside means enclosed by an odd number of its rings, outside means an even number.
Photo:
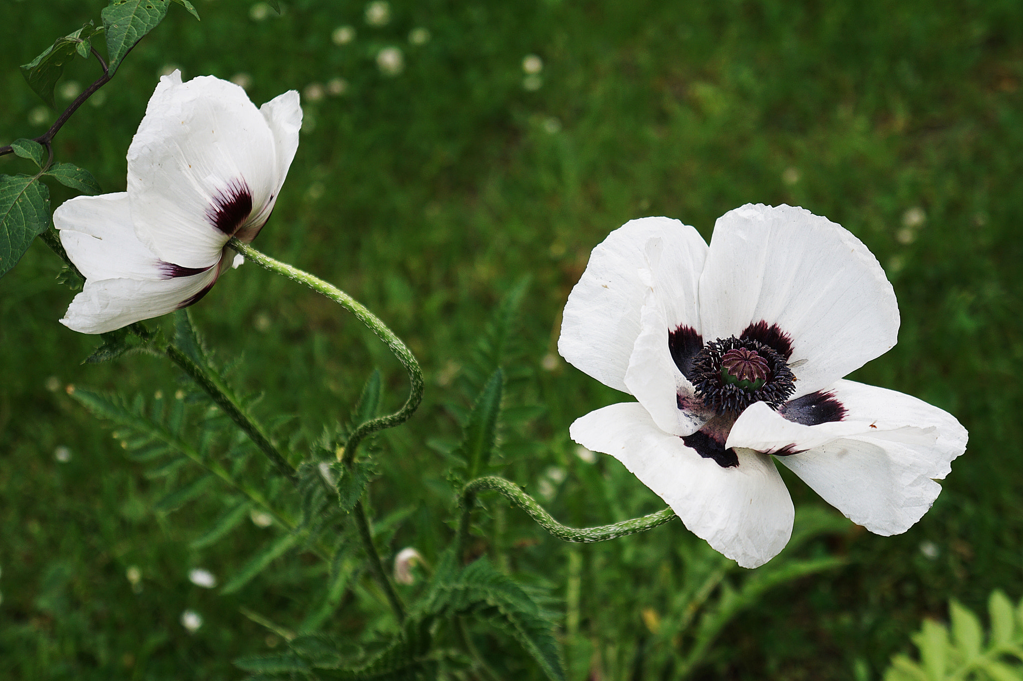
[[[167,279],[160,258],[142,245],[131,223],[128,194],[77,196],[53,211],[53,225],[72,262],[86,279]]]

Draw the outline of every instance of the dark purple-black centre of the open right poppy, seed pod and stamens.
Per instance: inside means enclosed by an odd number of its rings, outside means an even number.
[[[795,377],[777,351],[752,338],[719,338],[693,358],[697,396],[717,414],[738,416],[754,402],[779,408],[796,391]]]

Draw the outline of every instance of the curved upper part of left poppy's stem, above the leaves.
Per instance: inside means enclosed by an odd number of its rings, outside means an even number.
[[[376,334],[381,340],[387,343],[388,347],[391,348],[391,351],[398,357],[398,361],[400,361],[405,368],[405,371],[408,372],[408,379],[411,383],[411,388],[408,393],[408,399],[405,400],[402,407],[394,414],[367,421],[356,428],[355,431],[349,436],[348,442],[345,443],[343,461],[346,466],[351,466],[352,461],[355,460],[356,449],[358,448],[359,443],[362,442],[366,436],[375,433],[376,431],[384,430],[385,428],[393,428],[394,426],[405,423],[419,406],[419,402],[422,400],[424,388],[422,370],[419,369],[419,362],[415,360],[411,350],[409,350],[408,347],[401,342],[401,339],[395,336],[393,331],[388,329],[387,325],[381,322],[375,314],[370,312],[358,301],[352,298],[352,296],[348,295],[337,286],[328,284],[322,279],[314,277],[307,272],[303,272],[298,267],[294,267],[286,262],[281,262],[280,260],[276,260],[269,255],[264,255],[249,244],[242,243],[237,239],[232,238],[228,242],[228,245],[261,267],[278,275],[283,275],[292,281],[304,284],[351,311],[360,322],[362,322],[362,324],[369,327],[369,329]]]

